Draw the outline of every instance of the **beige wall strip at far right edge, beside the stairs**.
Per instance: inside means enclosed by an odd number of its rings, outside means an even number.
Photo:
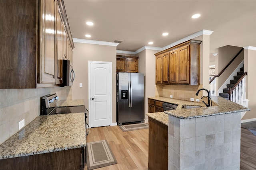
[[[242,120],[256,119],[256,51],[244,49],[244,71],[246,76],[246,99],[249,100],[250,111],[247,111]]]

